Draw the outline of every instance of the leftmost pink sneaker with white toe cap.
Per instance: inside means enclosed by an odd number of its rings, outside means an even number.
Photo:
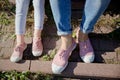
[[[21,45],[17,45],[14,48],[14,51],[10,57],[10,61],[11,62],[19,62],[20,60],[22,60],[23,57],[23,51],[27,48],[27,44],[21,44]]]

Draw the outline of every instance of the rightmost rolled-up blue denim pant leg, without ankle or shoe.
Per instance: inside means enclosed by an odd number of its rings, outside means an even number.
[[[86,0],[80,30],[89,33],[93,30],[95,23],[105,11],[110,0]]]

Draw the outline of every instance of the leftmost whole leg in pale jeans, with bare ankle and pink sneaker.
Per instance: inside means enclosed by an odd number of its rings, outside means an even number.
[[[23,51],[27,46],[24,42],[24,34],[29,2],[30,0],[16,0],[15,32],[17,44],[10,58],[12,62],[18,62],[22,59]]]

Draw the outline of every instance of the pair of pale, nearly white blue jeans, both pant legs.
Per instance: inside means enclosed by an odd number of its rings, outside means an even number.
[[[30,0],[16,0],[15,32],[25,34],[26,17]],[[33,0],[34,29],[43,29],[45,0]]]

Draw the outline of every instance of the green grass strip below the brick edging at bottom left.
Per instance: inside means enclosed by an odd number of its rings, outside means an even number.
[[[25,72],[0,72],[0,80],[51,80],[53,77],[47,74]]]

